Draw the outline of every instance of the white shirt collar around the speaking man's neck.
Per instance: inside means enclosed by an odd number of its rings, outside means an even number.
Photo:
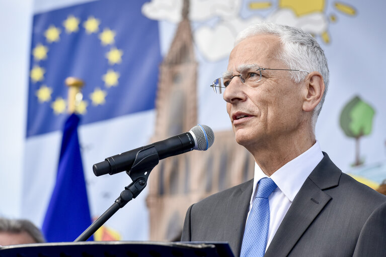
[[[271,175],[271,179],[277,185],[275,190],[280,189],[284,195],[292,202],[297,192],[299,192],[304,181],[310,176],[311,172],[323,159],[323,153],[319,142],[316,143],[307,151],[289,161],[276,172]],[[259,165],[255,163],[255,175],[253,181],[253,192],[255,195],[256,185],[262,178],[268,176],[261,170]],[[252,197],[253,199],[254,197]],[[251,200],[252,201],[252,200]]]

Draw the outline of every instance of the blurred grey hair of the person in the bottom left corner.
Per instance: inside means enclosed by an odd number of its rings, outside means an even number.
[[[0,218],[0,232],[28,233],[37,243],[44,243],[44,237],[39,228],[26,219]]]

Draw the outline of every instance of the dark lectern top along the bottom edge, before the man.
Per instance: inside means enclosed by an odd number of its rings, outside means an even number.
[[[0,257],[234,257],[225,242],[62,242],[0,247]]]

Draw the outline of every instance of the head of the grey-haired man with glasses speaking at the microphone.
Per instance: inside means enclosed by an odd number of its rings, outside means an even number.
[[[296,157],[315,143],[328,78],[324,51],[310,34],[259,23],[238,35],[212,87],[227,102],[236,141],[255,160],[261,151]]]

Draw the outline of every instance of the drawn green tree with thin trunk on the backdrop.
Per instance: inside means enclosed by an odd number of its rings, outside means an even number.
[[[372,130],[374,109],[358,96],[352,98],[340,114],[340,126],[347,137],[355,139],[354,166],[363,164],[359,155],[359,139],[369,135]]]

